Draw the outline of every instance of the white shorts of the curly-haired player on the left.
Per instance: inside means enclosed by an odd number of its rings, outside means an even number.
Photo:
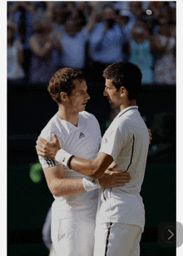
[[[52,205],[51,237],[55,256],[93,256],[96,215],[84,212],[73,218],[57,218]]]

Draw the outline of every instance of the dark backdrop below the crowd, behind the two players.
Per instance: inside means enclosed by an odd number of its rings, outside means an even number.
[[[87,111],[96,116],[103,133],[111,111],[102,96],[104,85],[87,85],[91,96]],[[158,243],[158,226],[176,221],[176,86],[145,88],[137,105],[153,140],[141,188],[146,208],[141,255],[171,256],[176,248]],[[7,250],[11,256],[48,255],[42,225],[53,198],[45,178],[33,183],[29,171],[37,162],[37,136],[56,112],[57,103],[45,84],[7,84]]]

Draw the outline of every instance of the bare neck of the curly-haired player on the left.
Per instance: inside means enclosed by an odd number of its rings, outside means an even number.
[[[61,118],[62,120],[69,122],[69,123],[72,123],[74,126],[78,125],[78,121],[79,121],[78,113],[72,112],[68,108],[59,106],[58,117]]]

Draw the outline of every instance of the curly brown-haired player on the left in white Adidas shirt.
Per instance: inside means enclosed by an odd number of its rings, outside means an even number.
[[[42,139],[51,141],[52,133],[55,133],[58,143],[69,153],[88,160],[96,158],[101,132],[96,118],[84,111],[90,97],[83,73],[72,68],[60,69],[50,80],[48,91],[58,104],[58,112],[43,128]],[[130,175],[108,170],[103,178],[95,181],[51,158],[39,157],[39,160],[55,198],[52,203],[52,243],[56,255],[92,256],[96,188],[121,186],[129,182]]]

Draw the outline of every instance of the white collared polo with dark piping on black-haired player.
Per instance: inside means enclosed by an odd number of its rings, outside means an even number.
[[[145,210],[140,195],[149,133],[137,106],[123,109],[106,130],[101,141],[101,153],[111,155],[117,169],[131,174],[130,183],[119,188],[100,188],[97,222],[145,224]]]

